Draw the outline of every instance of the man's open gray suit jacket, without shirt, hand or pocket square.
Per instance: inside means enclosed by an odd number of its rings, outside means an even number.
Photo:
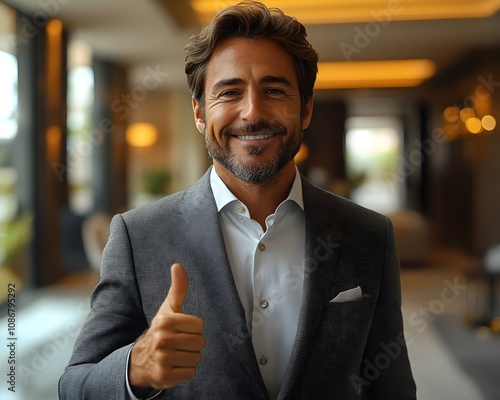
[[[278,399],[415,399],[389,220],[303,179],[303,304]],[[158,399],[268,399],[218,221],[209,173],[191,188],[114,217],[91,312],[61,377],[61,399],[127,399],[132,343],[181,263],[183,312],[205,323],[196,376]],[[361,286],[364,298],[330,302]],[[359,394],[361,387],[361,394]]]

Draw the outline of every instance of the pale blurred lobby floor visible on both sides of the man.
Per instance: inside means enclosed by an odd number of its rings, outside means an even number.
[[[450,257],[446,260],[440,262],[438,259],[432,267],[403,268],[401,274],[405,331],[418,399],[494,400],[494,395],[488,397],[485,393],[499,393],[495,388],[498,380],[481,383],[491,386],[489,391],[480,387],[478,380],[474,380],[463,364],[457,362],[448,339],[442,335],[442,329],[438,329],[446,317],[453,323],[454,328],[448,329],[452,335],[472,335],[483,349],[492,349],[491,352],[479,352],[481,357],[493,362],[500,360],[500,352],[495,353],[500,349],[500,335],[485,329],[473,329],[463,323],[466,291],[470,285],[465,281],[460,262],[453,261],[453,258],[450,262]],[[57,381],[88,312],[90,291],[96,279],[95,273],[73,276],[50,289],[26,294],[29,298],[24,302],[28,304],[19,307],[16,318],[15,393],[7,390],[4,379],[7,363],[4,360],[8,358],[8,349],[3,343],[0,346],[1,399],[57,399]],[[0,329],[4,330],[6,326],[6,319],[0,319]],[[444,326],[450,327],[450,323],[446,322]],[[4,337],[0,335],[0,340],[5,340]],[[464,346],[470,344],[464,343]],[[455,346],[457,348],[460,346]]]

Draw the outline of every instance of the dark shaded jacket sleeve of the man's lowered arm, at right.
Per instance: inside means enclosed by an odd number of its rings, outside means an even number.
[[[388,218],[385,262],[360,370],[362,400],[416,399],[401,313],[400,266]]]

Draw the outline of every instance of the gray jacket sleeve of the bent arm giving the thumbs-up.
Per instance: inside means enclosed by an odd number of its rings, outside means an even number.
[[[128,399],[127,356],[147,327],[127,228],[117,215],[111,222],[89,316],[59,381],[60,399]]]

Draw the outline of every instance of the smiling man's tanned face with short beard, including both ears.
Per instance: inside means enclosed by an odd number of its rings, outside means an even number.
[[[293,60],[279,45],[233,38],[213,52],[204,109],[196,101],[193,109],[214,162],[246,182],[266,182],[293,166],[312,99],[301,113]]]

